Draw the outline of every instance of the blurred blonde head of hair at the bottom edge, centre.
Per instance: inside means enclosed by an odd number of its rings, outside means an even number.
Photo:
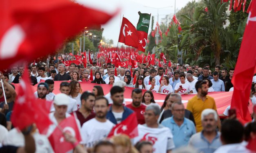
[[[115,144],[116,153],[139,153],[131,144],[130,138],[124,134],[113,136],[111,140]]]

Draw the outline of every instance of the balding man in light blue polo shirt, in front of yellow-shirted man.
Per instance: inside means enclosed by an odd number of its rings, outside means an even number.
[[[173,116],[163,120],[161,125],[168,127],[173,133],[176,148],[187,146],[189,138],[196,133],[195,125],[184,117],[185,107],[180,101],[171,105],[171,112]]]

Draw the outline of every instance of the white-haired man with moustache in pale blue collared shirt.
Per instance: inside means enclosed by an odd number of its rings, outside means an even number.
[[[205,109],[201,114],[201,121],[203,131],[194,134],[189,140],[189,145],[199,152],[213,153],[221,146],[220,133],[216,129],[218,122],[217,112],[214,109]]]

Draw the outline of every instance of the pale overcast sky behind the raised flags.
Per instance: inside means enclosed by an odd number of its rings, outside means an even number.
[[[174,4],[175,0],[122,0],[122,10],[119,15],[111,19],[107,24],[102,25],[104,28],[103,36],[106,39],[113,39],[114,46],[117,46],[119,32],[120,32],[120,24],[122,22],[122,16],[126,17],[135,27],[137,25],[139,15],[138,11],[141,13],[151,13],[151,16],[154,15],[154,27],[156,26],[157,21],[157,8],[159,14],[159,22],[161,22],[161,18],[165,17],[165,15],[174,14]],[[192,0],[176,0],[176,12],[184,7],[187,2]],[[197,1],[197,0],[196,0]],[[154,7],[149,8],[149,7]],[[168,7],[168,8],[163,8]],[[161,9],[163,8],[163,9]],[[151,27],[151,21],[150,26]],[[149,28],[150,29],[150,28]],[[119,45],[118,45],[119,46]]]

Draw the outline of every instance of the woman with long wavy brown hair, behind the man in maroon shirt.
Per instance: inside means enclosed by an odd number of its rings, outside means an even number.
[[[76,104],[80,108],[80,106],[81,106],[81,99],[80,98],[81,98],[81,94],[82,94],[81,85],[76,80],[70,81],[69,84],[70,84],[69,96],[71,96],[71,98],[76,100]]]

